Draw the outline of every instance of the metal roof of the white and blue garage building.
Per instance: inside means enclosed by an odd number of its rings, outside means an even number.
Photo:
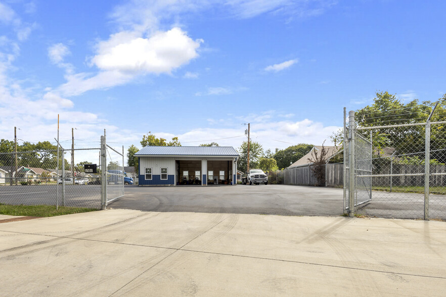
[[[135,156],[228,156],[238,157],[232,146],[145,146]]]

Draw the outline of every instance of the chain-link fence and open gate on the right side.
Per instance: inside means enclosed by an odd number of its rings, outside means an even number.
[[[446,219],[445,124],[356,127],[350,112],[353,134],[344,136],[345,210],[384,218]]]

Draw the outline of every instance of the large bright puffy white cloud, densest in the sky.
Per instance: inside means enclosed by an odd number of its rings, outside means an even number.
[[[150,38],[119,40],[120,37],[121,34],[112,35],[109,40],[100,42],[99,53],[92,63],[102,70],[171,73],[198,57],[201,42],[192,40],[177,27],[157,32]]]

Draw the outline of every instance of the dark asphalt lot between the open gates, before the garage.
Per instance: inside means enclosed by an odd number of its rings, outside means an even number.
[[[290,185],[125,186],[110,208],[157,212],[339,216],[343,190]]]

